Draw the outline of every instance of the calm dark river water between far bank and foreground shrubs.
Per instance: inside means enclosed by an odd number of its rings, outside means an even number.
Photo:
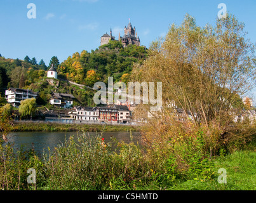
[[[88,136],[97,136],[97,133],[86,133]],[[133,132],[133,141],[137,143],[140,138],[139,133]],[[40,155],[48,151],[48,147],[53,150],[54,147],[58,147],[61,143],[64,143],[66,139],[74,135],[77,137],[76,132],[17,132],[10,133],[8,136],[8,142],[13,144],[13,148],[18,150],[23,147],[24,150],[30,150],[34,147],[34,150]],[[116,138],[118,141],[125,141],[125,143],[130,143],[130,132],[105,132],[102,134],[105,138],[105,142],[111,141],[111,137]]]

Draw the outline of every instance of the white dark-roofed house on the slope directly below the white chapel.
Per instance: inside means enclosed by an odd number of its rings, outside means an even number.
[[[51,93],[50,104],[58,108],[71,108],[74,98],[71,94]]]

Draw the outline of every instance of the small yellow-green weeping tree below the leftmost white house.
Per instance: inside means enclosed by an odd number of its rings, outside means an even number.
[[[36,112],[36,99],[31,98],[21,101],[20,106],[18,107],[18,112],[20,113],[21,117],[30,115],[30,119],[32,120],[32,115],[34,115]]]

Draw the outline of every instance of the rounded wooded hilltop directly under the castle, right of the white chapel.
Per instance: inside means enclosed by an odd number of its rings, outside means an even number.
[[[107,83],[109,76],[114,77],[114,81],[126,82],[133,63],[142,63],[146,56],[147,49],[143,46],[123,48],[119,41],[110,41],[91,53],[74,53],[60,64],[58,72],[71,81],[87,86],[93,86],[97,81]]]

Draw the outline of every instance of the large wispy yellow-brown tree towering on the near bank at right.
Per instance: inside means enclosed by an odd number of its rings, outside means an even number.
[[[242,107],[241,96],[255,86],[255,48],[244,27],[232,15],[214,27],[199,27],[186,15],[151,44],[149,58],[133,69],[133,81],[163,82],[163,103],[175,101],[198,126],[227,126]]]

